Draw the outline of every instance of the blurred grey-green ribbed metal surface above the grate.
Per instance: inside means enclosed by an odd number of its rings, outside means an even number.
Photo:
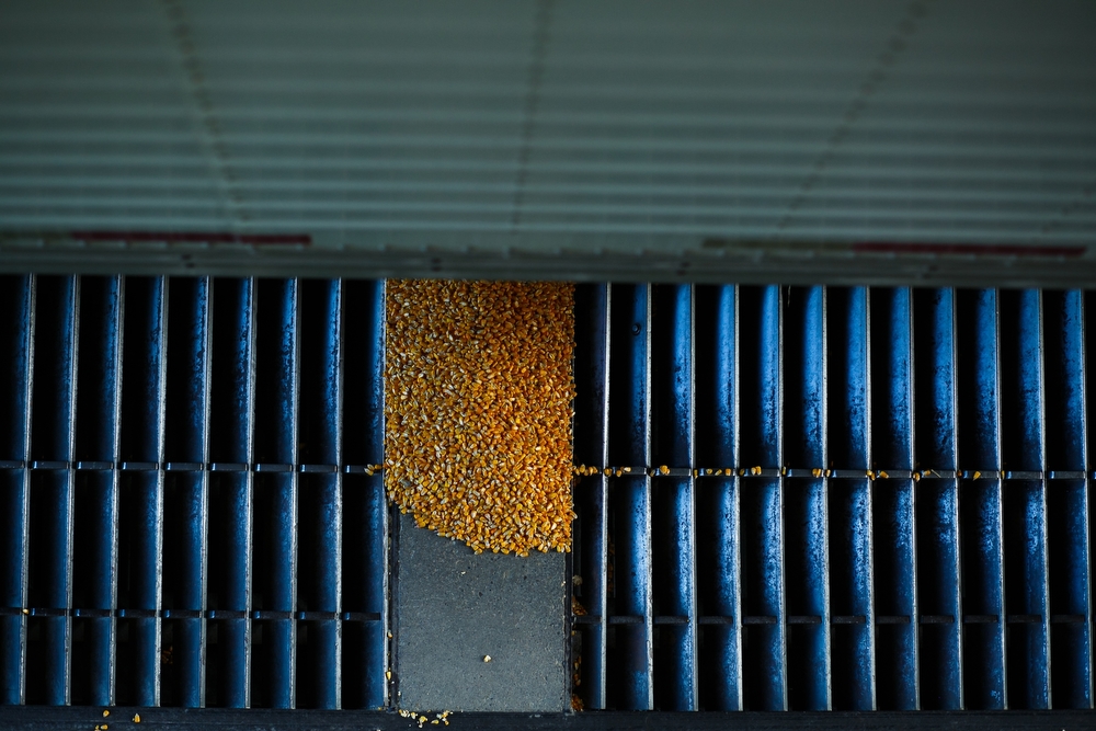
[[[0,244],[23,266],[49,263],[56,237],[85,242],[67,250],[89,267],[146,243],[115,271],[330,269],[357,251],[377,256],[375,276],[464,261],[574,277],[603,267],[600,254],[646,252],[660,278],[727,281],[733,258],[742,281],[787,241],[1096,256],[1091,3],[8,0],[0,12]],[[163,244],[180,231],[201,236]],[[278,236],[330,259],[251,251]],[[742,241],[762,253],[729,245]],[[814,253],[829,264],[791,256],[785,277],[849,276]],[[523,269],[523,254],[584,263]],[[923,263],[868,269],[1070,271]]]

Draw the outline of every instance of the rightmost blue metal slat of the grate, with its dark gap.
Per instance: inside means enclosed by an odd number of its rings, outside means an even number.
[[[1043,292],[1047,387],[1047,468],[1084,470],[1085,311],[1081,292]],[[1082,623],[1052,624],[1051,706],[1092,708],[1091,511],[1086,480],[1047,486],[1050,615],[1083,616]]]

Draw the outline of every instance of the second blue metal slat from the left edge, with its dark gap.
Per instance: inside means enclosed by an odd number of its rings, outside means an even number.
[[[75,276],[38,277],[34,338],[34,412],[31,457],[67,462],[76,442],[76,367],[80,318],[80,283]],[[75,475],[71,469],[35,471],[31,476],[30,602],[34,607],[72,606],[72,528]],[[68,705],[72,619],[32,619],[42,633],[33,652],[42,666],[38,703]],[[28,696],[32,688],[27,689]],[[31,698],[28,697],[28,700]]]

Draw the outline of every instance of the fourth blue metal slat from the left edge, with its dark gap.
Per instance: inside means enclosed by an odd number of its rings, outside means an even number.
[[[125,335],[122,385],[122,458],[159,466],[163,461],[164,388],[167,384],[165,277],[126,279]],[[163,472],[159,469],[125,475],[119,542],[128,549],[126,609],[159,613],[162,599]],[[125,503],[128,503],[126,505]],[[121,590],[119,590],[121,594]],[[159,615],[127,617],[128,687],[119,703],[157,706],[160,703]],[[121,630],[119,630],[121,631]],[[119,676],[122,667],[119,667]]]

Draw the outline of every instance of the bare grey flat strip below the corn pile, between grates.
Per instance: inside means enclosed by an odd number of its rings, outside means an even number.
[[[570,708],[563,553],[477,556],[402,515],[398,557],[399,708]]]

